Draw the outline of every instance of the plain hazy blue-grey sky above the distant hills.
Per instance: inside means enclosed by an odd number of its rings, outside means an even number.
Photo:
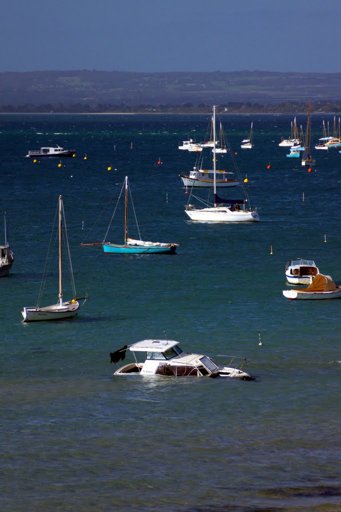
[[[0,71],[340,72],[340,0],[11,0]]]

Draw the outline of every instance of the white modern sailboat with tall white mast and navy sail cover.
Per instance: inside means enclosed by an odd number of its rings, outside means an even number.
[[[213,107],[213,119],[215,124],[215,106]],[[246,202],[248,201],[248,196],[246,190],[244,189],[244,198],[243,199],[221,199],[216,194],[216,140],[215,140],[215,130],[213,130],[214,134],[214,147],[213,147],[213,197],[214,203],[207,202],[206,208],[196,208],[195,205],[190,204],[189,201],[192,198],[192,191],[189,197],[188,204],[186,205],[186,214],[193,221],[208,221],[208,222],[257,222],[259,221],[259,216],[256,210],[251,210],[246,208]],[[232,158],[232,161],[235,165],[235,169],[237,174],[238,168],[236,166],[236,162],[233,158],[232,152],[229,152]],[[239,180],[240,181],[240,180]],[[194,197],[194,196],[193,196]],[[202,199],[196,198],[201,202]],[[228,204],[229,206],[223,206],[224,204]]]

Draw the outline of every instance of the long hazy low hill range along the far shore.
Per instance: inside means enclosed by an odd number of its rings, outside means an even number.
[[[0,105],[341,103],[341,73],[34,71],[0,73]],[[49,107],[48,107],[49,108]],[[76,109],[77,110],[77,109]]]

